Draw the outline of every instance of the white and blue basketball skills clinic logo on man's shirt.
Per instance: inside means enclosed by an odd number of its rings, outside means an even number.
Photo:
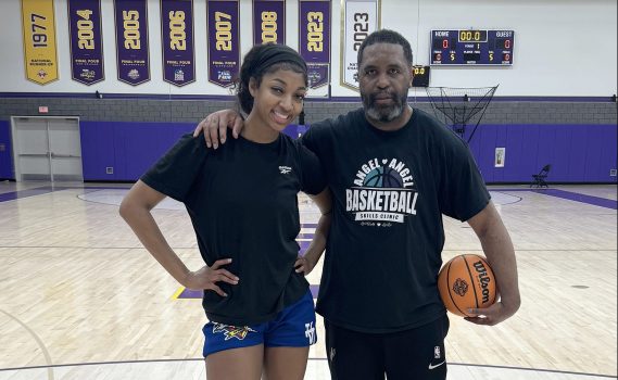
[[[396,159],[369,160],[345,189],[345,211],[355,220],[404,223],[416,215],[417,200],[412,172]]]

